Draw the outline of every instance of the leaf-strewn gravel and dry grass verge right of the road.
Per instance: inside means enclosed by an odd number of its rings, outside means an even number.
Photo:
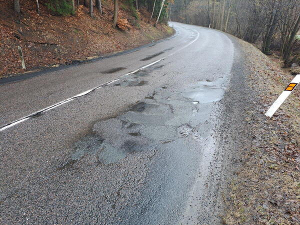
[[[271,119],[265,111],[293,78],[277,60],[240,41],[247,65],[245,114],[248,143],[237,149],[239,165],[224,194],[226,224],[299,224],[300,88]],[[241,143],[242,145],[242,143]]]

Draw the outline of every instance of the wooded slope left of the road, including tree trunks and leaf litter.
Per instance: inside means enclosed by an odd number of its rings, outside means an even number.
[[[0,0],[0,77],[161,39],[172,0]],[[22,48],[22,69],[17,46]]]

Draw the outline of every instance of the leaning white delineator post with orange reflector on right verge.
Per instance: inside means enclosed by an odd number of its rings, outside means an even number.
[[[300,74],[296,75],[288,86],[283,90],[283,92],[279,95],[279,97],[274,101],[271,107],[265,112],[265,115],[269,118],[275,113],[275,111],[280,107],[283,101],[288,97],[291,91],[294,90],[296,85],[300,82]]]

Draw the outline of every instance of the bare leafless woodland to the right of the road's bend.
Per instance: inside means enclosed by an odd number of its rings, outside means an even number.
[[[206,26],[257,44],[265,54],[299,61],[299,0],[175,0],[171,20]]]

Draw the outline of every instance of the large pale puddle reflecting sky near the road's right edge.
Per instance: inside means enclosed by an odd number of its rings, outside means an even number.
[[[193,104],[219,101],[223,98],[223,95],[223,88],[214,85],[211,81],[201,81],[182,92],[182,96],[191,99]]]

